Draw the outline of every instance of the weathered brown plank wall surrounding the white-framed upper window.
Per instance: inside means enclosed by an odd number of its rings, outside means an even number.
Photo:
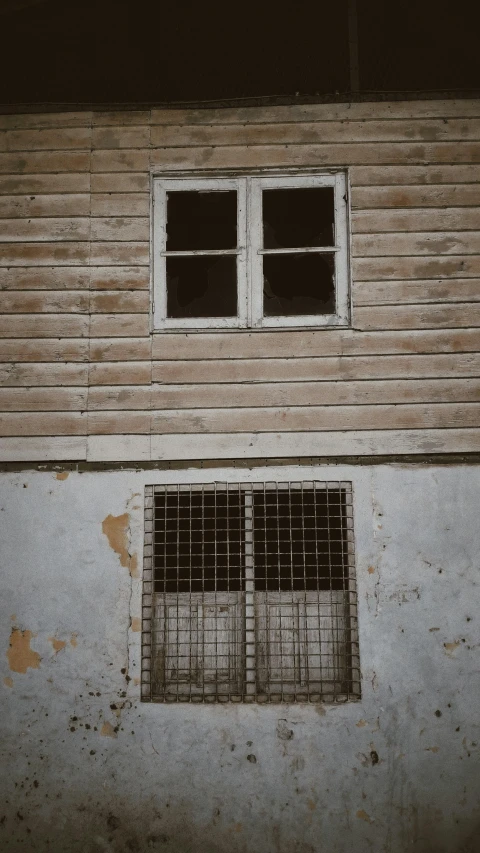
[[[149,332],[152,170],[348,167],[353,327]],[[480,101],[0,116],[0,456],[480,450]]]

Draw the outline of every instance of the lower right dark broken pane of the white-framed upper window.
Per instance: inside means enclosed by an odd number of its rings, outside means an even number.
[[[334,272],[333,254],[264,255],[264,315],[334,314]]]

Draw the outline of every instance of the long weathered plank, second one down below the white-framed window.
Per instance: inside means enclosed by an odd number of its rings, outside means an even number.
[[[480,353],[436,355],[349,355],[323,358],[236,358],[153,361],[152,382],[168,387],[192,383],[302,383],[368,379],[411,379],[480,376]],[[112,382],[112,385],[115,384]],[[140,384],[140,383],[139,383]],[[223,386],[215,389],[222,394]],[[321,393],[319,390],[318,393]]]

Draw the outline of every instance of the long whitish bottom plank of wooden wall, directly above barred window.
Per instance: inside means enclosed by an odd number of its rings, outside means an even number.
[[[123,441],[127,437],[122,436]],[[132,439],[134,436],[132,436]],[[88,458],[112,459],[110,436],[88,439]],[[363,430],[294,433],[152,435],[152,459],[255,459],[262,457],[360,456],[411,453],[473,453],[479,429]],[[134,452],[134,442],[130,450]]]

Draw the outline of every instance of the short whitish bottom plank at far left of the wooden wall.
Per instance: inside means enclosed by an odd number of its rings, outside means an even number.
[[[0,459],[3,462],[83,461],[86,458],[86,436],[0,439]]]

